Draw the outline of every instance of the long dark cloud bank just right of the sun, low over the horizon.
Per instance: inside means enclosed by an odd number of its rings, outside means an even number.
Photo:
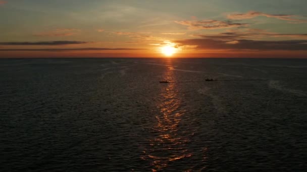
[[[259,40],[214,40],[186,39],[175,41],[180,46],[197,46],[197,49],[233,49],[233,50],[307,50],[307,40],[259,41]]]

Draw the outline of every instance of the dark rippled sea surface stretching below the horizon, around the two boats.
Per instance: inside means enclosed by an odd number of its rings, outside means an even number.
[[[307,169],[303,59],[1,59],[0,100],[1,171]]]

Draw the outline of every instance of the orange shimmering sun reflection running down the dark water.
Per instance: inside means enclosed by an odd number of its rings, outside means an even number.
[[[174,70],[168,69],[164,79],[175,81]],[[148,160],[152,171],[163,170],[171,165],[180,163],[180,159],[191,157],[186,148],[188,137],[179,132],[179,125],[185,110],[181,108],[181,97],[176,82],[163,85],[161,101],[157,104],[160,113],[156,116],[157,124],[152,128],[156,137],[149,140],[142,159]]]

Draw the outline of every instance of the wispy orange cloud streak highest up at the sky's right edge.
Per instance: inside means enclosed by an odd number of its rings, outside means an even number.
[[[268,18],[275,18],[275,19],[279,19],[279,20],[292,21],[292,22],[297,22],[297,23],[307,22],[307,20],[295,19],[295,18],[298,17],[298,16],[295,16],[295,15],[284,15],[284,14],[272,15],[272,14],[267,14],[267,13],[262,13],[262,12],[254,12],[254,11],[250,11],[250,12],[247,12],[247,13],[229,14],[227,16],[227,18],[228,19],[234,19],[234,20],[242,20],[242,19],[252,19],[252,18],[255,18],[255,17],[259,17],[259,16],[264,16],[264,17],[268,17]]]

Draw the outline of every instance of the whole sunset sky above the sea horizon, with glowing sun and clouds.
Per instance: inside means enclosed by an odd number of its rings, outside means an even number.
[[[306,0],[0,0],[0,58],[307,58],[306,7]]]

